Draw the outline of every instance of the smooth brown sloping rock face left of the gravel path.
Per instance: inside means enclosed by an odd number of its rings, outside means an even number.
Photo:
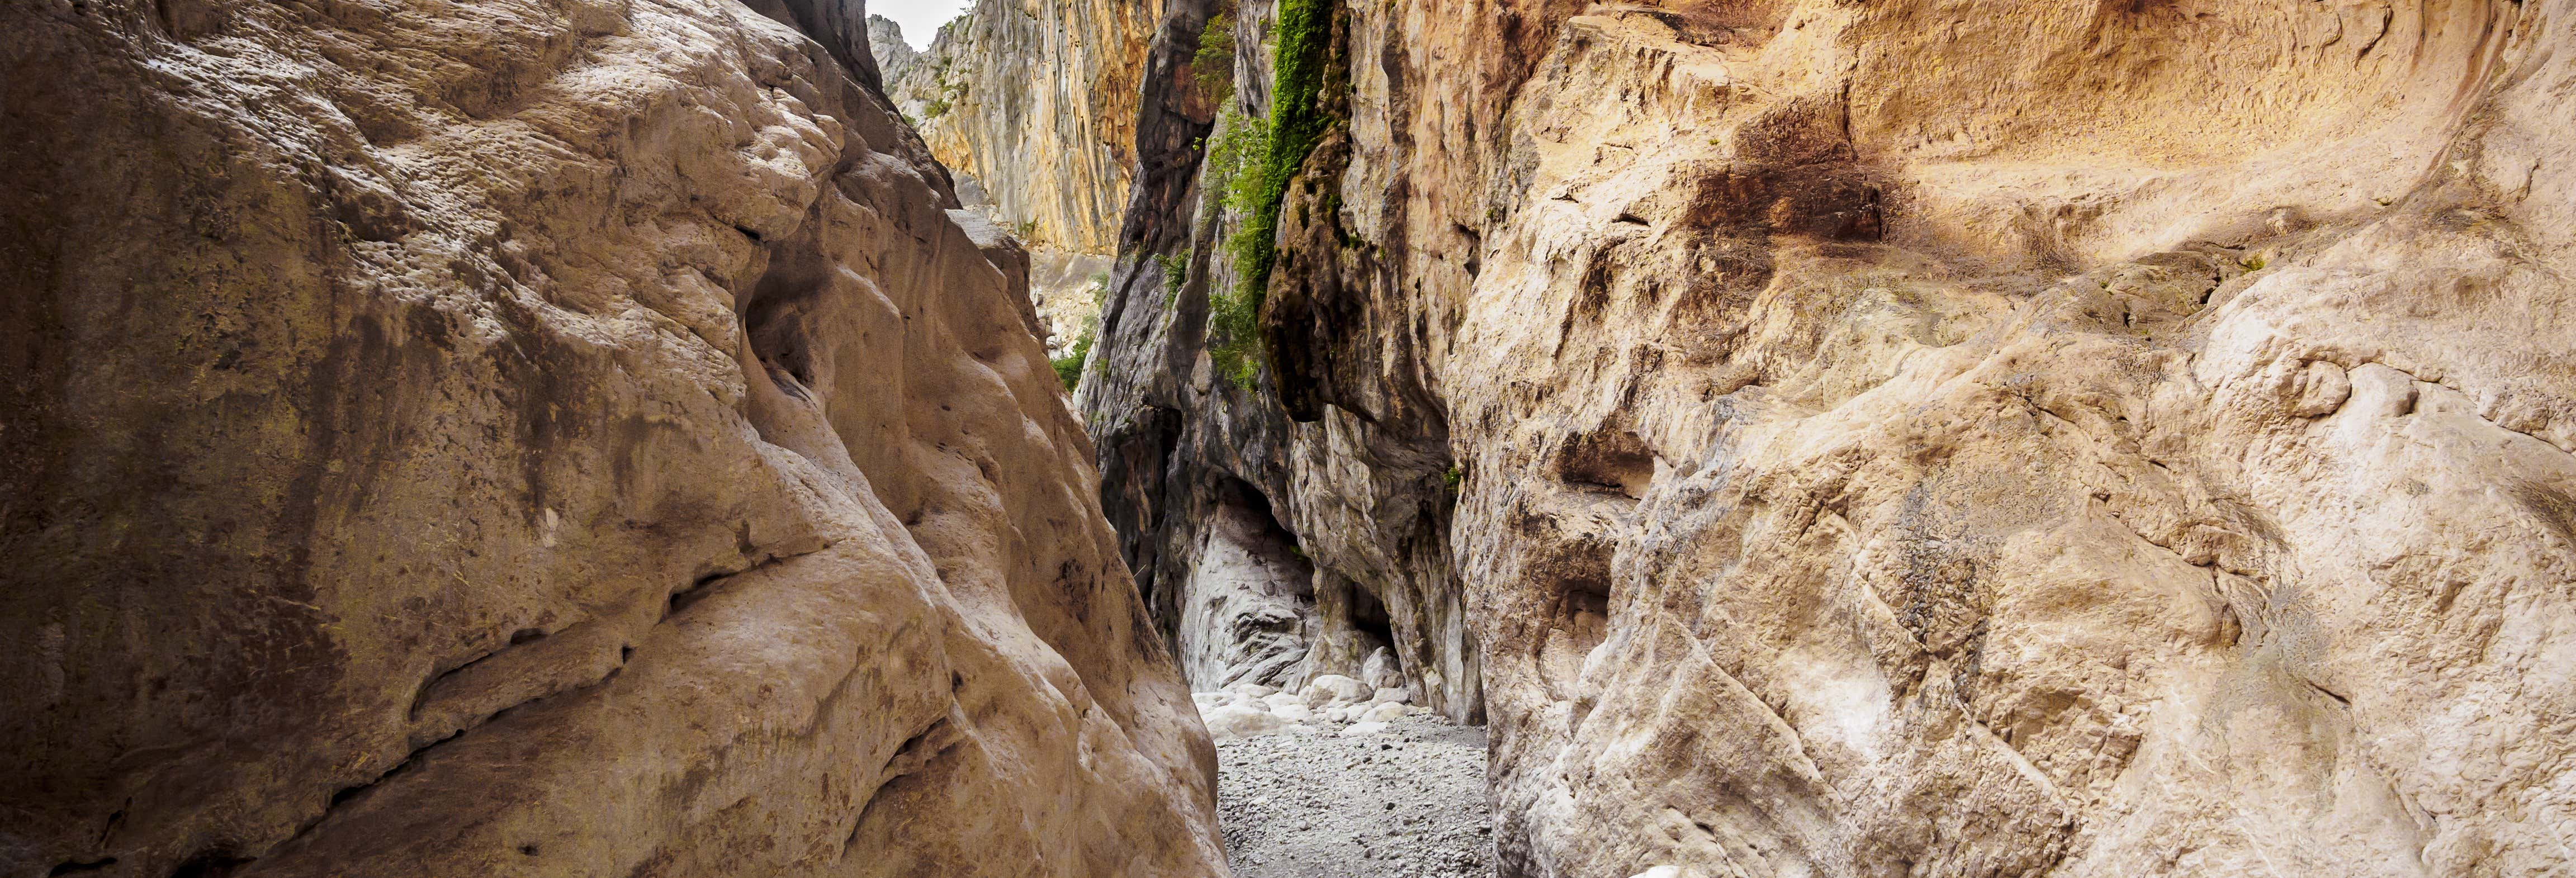
[[[855,8],[0,10],[0,875],[1224,873]]]

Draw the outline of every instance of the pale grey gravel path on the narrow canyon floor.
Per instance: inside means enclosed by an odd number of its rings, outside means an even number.
[[[1489,878],[1484,729],[1404,716],[1386,731],[1216,742],[1236,878]]]

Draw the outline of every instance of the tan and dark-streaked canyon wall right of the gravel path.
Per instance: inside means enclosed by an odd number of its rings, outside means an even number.
[[[1249,389],[1273,10],[1157,36],[1103,502],[1376,597],[1504,875],[2576,870],[2576,3],[1303,8]]]

